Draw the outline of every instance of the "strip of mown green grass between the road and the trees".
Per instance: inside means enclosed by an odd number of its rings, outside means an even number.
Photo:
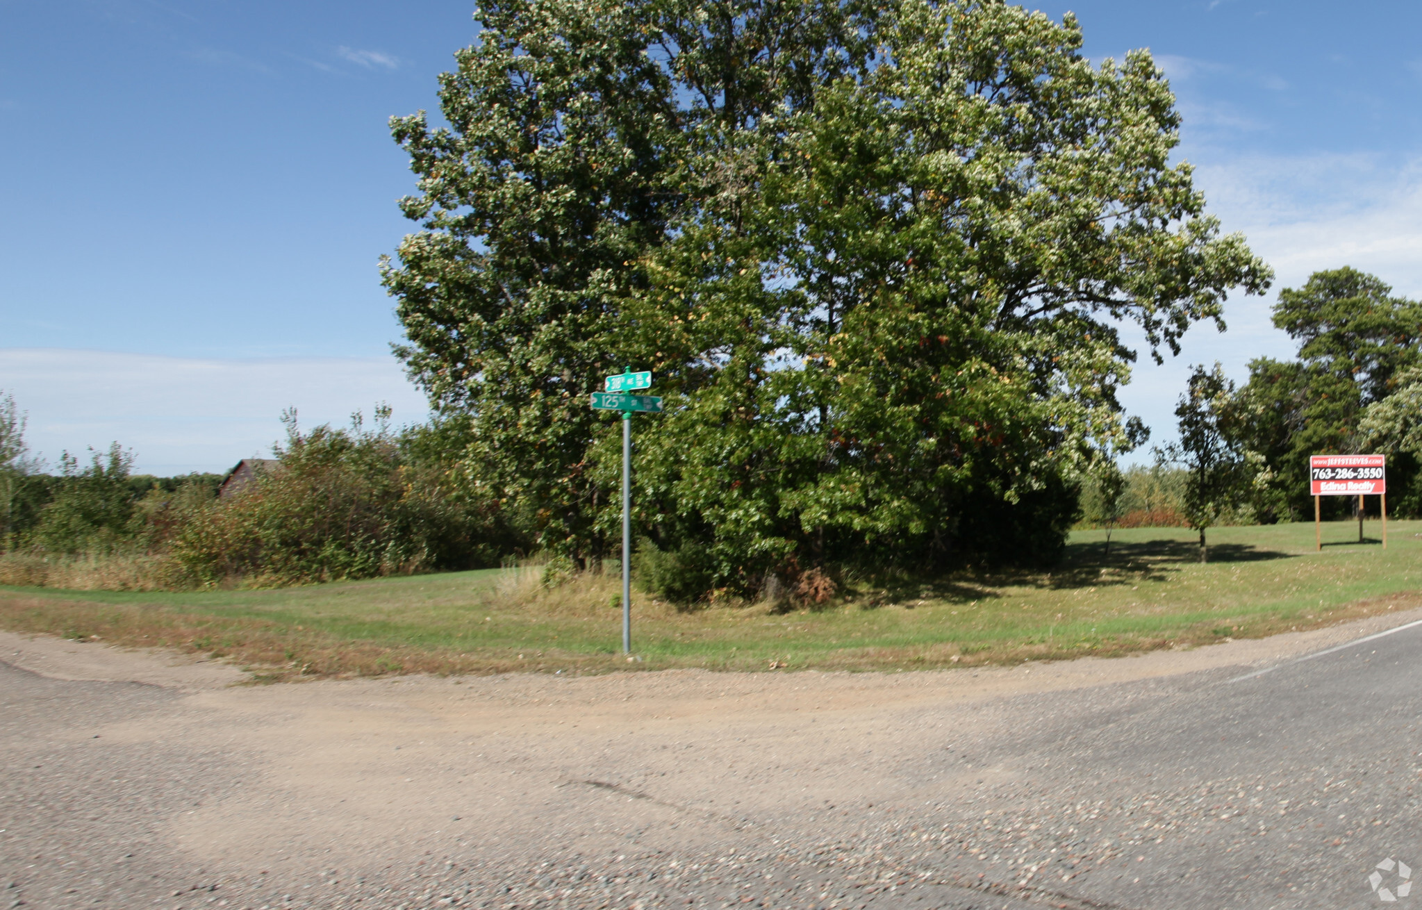
[[[619,582],[556,590],[538,570],[485,570],[283,590],[0,587],[0,627],[225,655],[262,678],[614,668],[926,668],[1187,647],[1311,628],[1422,603],[1422,522],[1217,528],[1210,563],[1182,529],[1075,532],[1051,573],[849,582],[819,611],[681,611],[634,596],[620,650]]]

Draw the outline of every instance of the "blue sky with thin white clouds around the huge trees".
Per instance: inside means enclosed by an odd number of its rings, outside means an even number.
[[[1030,4],[1034,6],[1034,4]],[[1094,58],[1148,47],[1177,158],[1277,287],[1354,264],[1422,296],[1422,6],[1052,3]],[[277,417],[424,414],[377,259],[410,230],[387,119],[435,108],[466,0],[0,0],[0,388],[53,462],[118,439],[138,468],[222,471]],[[1192,330],[1123,395],[1170,435],[1187,364],[1287,357],[1266,300]]]

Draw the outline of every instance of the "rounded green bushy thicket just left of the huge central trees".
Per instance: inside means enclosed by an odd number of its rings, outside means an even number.
[[[300,432],[284,415],[279,465],[209,502],[172,536],[193,580],[290,584],[496,563],[496,543],[447,466],[412,462],[388,410],[365,429]],[[499,542],[502,543],[502,542]]]

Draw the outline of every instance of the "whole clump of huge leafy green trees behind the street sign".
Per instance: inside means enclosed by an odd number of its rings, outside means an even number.
[[[425,230],[387,282],[414,375],[545,545],[611,529],[624,363],[643,528],[751,587],[852,556],[1049,557],[1116,390],[1268,269],[1170,165],[1145,53],[1004,3],[482,7],[449,128],[397,119]],[[586,164],[584,164],[586,162]],[[562,239],[555,249],[550,237]]]

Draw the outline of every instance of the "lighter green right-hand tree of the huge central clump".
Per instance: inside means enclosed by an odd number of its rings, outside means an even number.
[[[1074,26],[897,7],[887,63],[744,144],[749,237],[707,219],[654,257],[658,347],[675,326],[677,360],[725,360],[647,431],[647,518],[711,535],[722,577],[747,555],[1054,556],[1075,478],[1133,442],[1115,323],[1173,347],[1267,284],[1167,165],[1159,71],[1092,67]]]

